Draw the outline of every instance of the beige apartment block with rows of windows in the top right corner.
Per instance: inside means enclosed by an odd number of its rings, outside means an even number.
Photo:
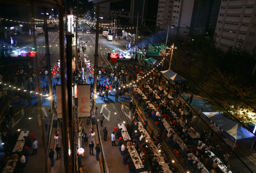
[[[227,50],[242,44],[247,51],[255,49],[255,12],[255,0],[222,0],[214,35],[216,47]]]

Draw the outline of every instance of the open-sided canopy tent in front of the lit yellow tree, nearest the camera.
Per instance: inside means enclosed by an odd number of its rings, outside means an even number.
[[[220,112],[202,112],[201,115],[221,133],[234,142],[233,149],[237,140],[255,138],[254,134],[240,126],[239,123],[224,117]]]

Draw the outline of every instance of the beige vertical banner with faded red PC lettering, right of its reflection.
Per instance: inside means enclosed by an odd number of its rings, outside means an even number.
[[[77,85],[78,118],[90,117],[90,84]]]

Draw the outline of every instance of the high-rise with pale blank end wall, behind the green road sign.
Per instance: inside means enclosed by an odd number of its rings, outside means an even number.
[[[177,35],[178,39],[203,36],[205,34],[212,0],[159,0],[156,30]],[[164,29],[164,30],[163,30]]]

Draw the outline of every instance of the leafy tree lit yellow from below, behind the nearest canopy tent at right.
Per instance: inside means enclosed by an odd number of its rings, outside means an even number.
[[[223,73],[216,69],[211,77],[222,86],[229,89],[236,96],[256,107],[256,87],[246,87],[247,81],[242,76],[235,76],[232,73]],[[228,112],[245,125],[256,125],[256,115],[250,106],[236,98],[219,84],[209,79],[202,83],[203,90],[209,94],[214,100],[219,102]],[[210,105],[214,111],[221,112],[225,117],[235,119],[230,116],[221,106],[214,102],[203,91],[200,91],[202,100],[205,105]]]

